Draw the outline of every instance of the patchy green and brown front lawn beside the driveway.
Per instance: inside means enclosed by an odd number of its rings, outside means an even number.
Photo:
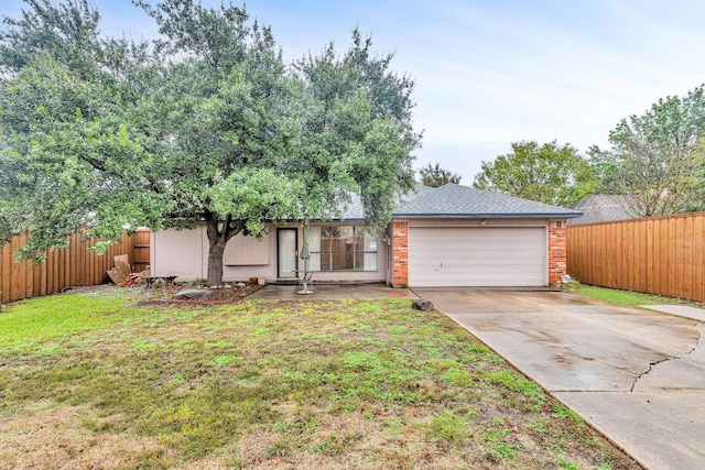
[[[638,468],[410,300],[193,309],[134,292],[0,315],[0,468]]]

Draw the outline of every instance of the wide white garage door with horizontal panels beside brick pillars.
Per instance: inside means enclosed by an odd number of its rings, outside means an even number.
[[[546,230],[410,228],[411,287],[499,287],[546,284]]]

